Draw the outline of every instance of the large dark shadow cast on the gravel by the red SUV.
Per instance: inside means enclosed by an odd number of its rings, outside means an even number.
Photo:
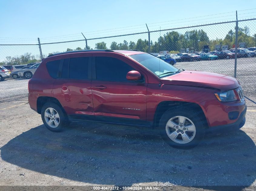
[[[30,129],[4,145],[1,157],[29,170],[93,184],[249,186],[256,177],[255,144],[242,130],[179,150],[148,129],[97,123],[70,126],[60,133],[43,125]]]

